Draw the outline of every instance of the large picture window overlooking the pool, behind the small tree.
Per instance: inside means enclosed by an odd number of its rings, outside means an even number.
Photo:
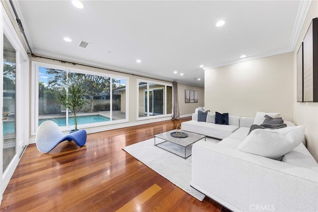
[[[127,78],[106,76],[101,73],[56,67],[35,63],[34,130],[46,120],[62,128],[72,128],[74,111],[61,103],[59,96],[68,85],[78,85],[83,90],[84,106],[75,111],[79,127],[98,126],[127,121]],[[33,125],[33,124],[32,124]]]

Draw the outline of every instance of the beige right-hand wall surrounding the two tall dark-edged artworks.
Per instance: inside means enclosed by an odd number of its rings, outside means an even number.
[[[318,103],[297,103],[297,51],[303,41],[307,29],[313,18],[318,16],[318,1],[312,1],[303,29],[294,50],[294,122],[297,125],[305,125],[307,148],[318,161]],[[317,59],[317,58],[316,58]]]

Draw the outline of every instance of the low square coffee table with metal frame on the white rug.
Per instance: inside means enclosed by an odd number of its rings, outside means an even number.
[[[155,135],[155,146],[183,157],[184,159],[188,158],[192,154],[192,145],[195,142],[203,138],[205,140],[205,135],[194,132],[182,130],[182,132],[188,134],[188,137],[185,138],[172,137],[170,135],[172,132],[175,132],[175,129]]]

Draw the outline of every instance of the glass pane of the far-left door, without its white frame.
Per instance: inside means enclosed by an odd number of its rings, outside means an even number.
[[[2,93],[2,133],[3,133],[3,167],[2,173],[16,154],[16,104],[15,73],[16,51],[3,35],[3,93]]]

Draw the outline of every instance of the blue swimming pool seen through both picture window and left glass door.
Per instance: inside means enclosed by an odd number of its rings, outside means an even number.
[[[78,121],[78,124],[110,121],[108,117],[103,115],[82,115],[82,116],[77,116],[76,119]],[[39,119],[39,125],[47,120],[52,120],[55,123],[57,123],[59,126],[66,126],[66,117]],[[74,124],[75,124],[74,117],[69,117],[69,126]],[[14,131],[15,131],[14,121],[3,121],[3,134],[14,133]]]

